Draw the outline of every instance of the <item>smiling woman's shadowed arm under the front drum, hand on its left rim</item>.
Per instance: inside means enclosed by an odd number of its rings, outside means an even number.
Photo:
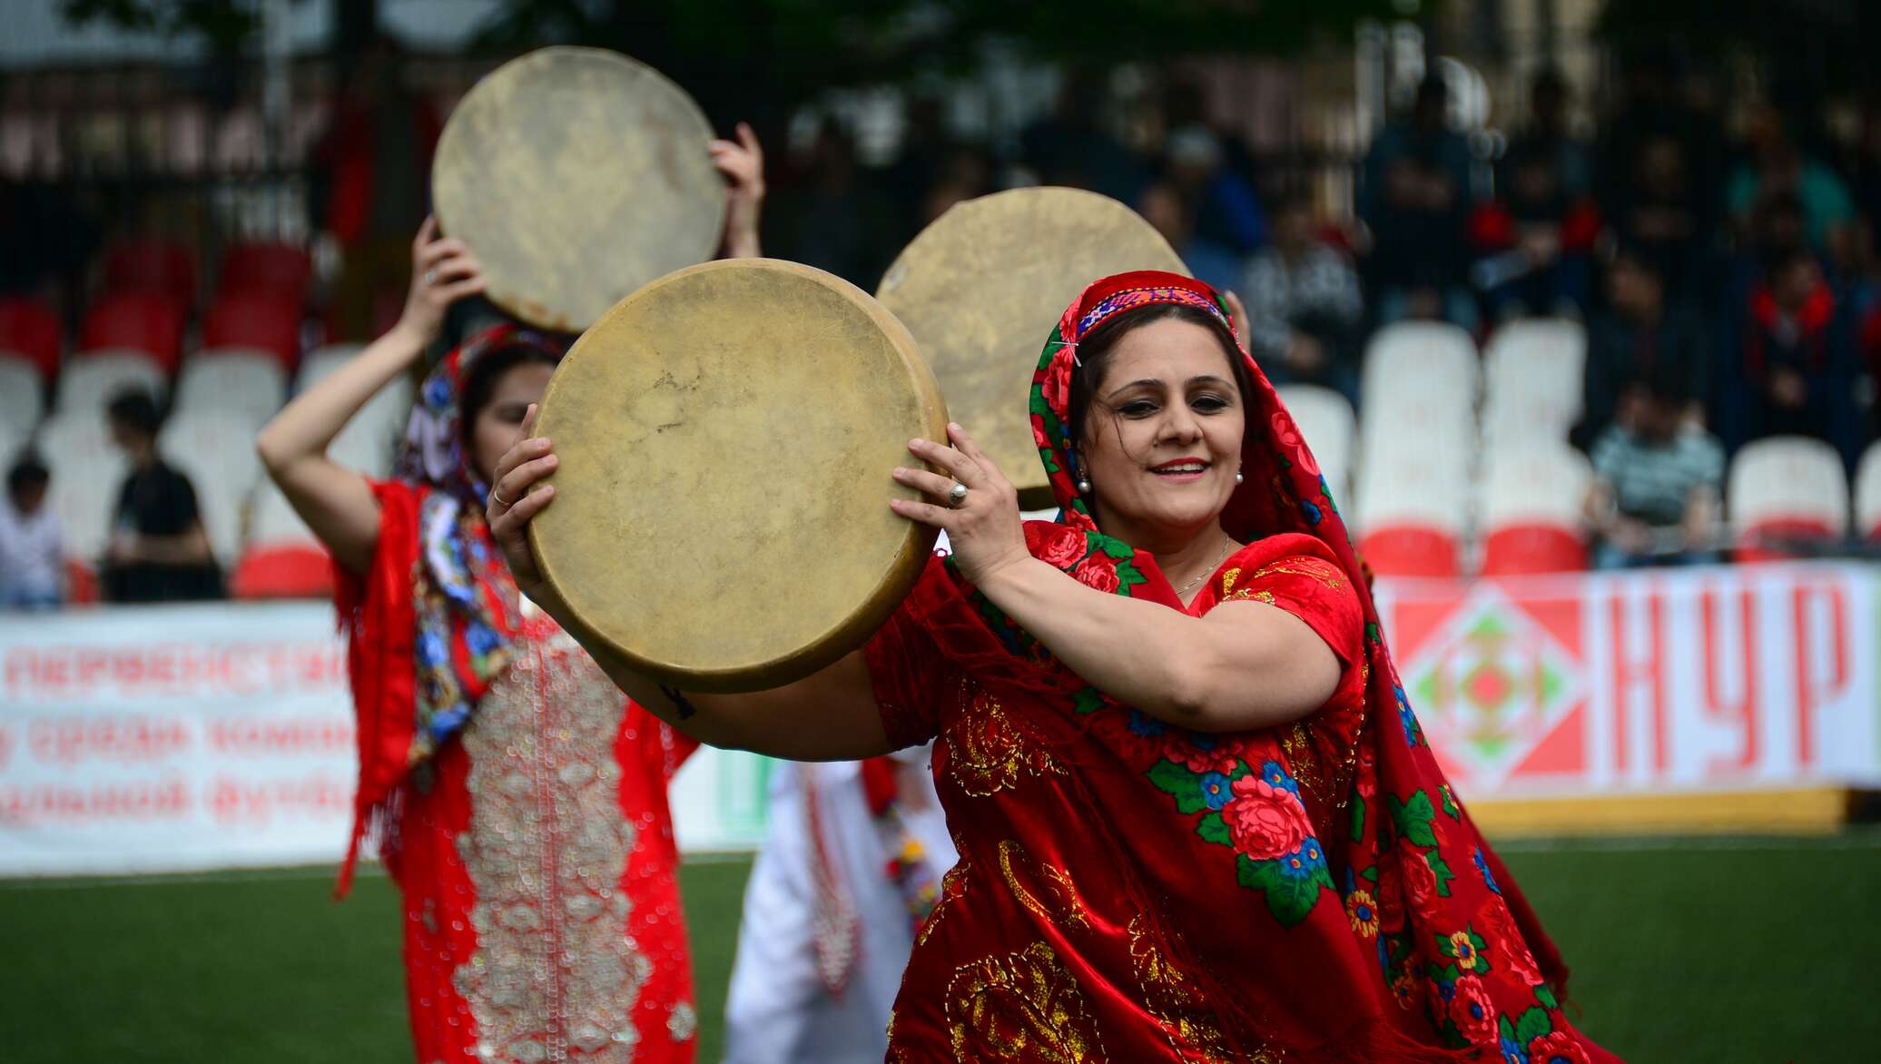
[[[794,761],[852,761],[888,752],[888,733],[875,705],[869,665],[860,650],[781,688],[698,694],[662,686],[634,671],[608,643],[587,630],[568,603],[544,583],[529,545],[529,521],[555,502],[555,485],[538,483],[553,470],[551,442],[534,436],[534,427],[536,408],[530,406],[523,417],[521,436],[497,462],[497,487],[489,493],[485,511],[489,530],[510,562],[515,587],[574,635],[615,686],[707,746],[754,750]],[[500,504],[498,496],[514,500],[514,506]]]

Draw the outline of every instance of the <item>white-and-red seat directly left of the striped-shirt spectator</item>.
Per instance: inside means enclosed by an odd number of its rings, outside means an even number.
[[[1557,442],[1488,451],[1477,511],[1482,575],[1559,573],[1588,568],[1582,506],[1593,468]]]

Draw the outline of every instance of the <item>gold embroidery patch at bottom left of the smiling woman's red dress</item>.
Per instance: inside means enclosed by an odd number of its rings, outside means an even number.
[[[1044,942],[956,968],[946,1023],[957,1064],[1106,1060],[1078,979]]]

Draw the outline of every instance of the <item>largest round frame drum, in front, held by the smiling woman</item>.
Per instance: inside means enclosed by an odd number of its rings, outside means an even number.
[[[529,526],[542,573],[662,686],[801,679],[880,628],[933,551],[888,500],[914,494],[890,476],[909,440],[946,438],[940,389],[893,314],[807,265],[647,284],[568,352],[536,429],[561,457]]]

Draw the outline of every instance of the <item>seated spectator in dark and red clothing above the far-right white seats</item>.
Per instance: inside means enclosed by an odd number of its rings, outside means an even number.
[[[1772,258],[1742,308],[1717,427],[1736,451],[1766,436],[1813,436],[1860,457],[1855,346],[1823,267],[1808,250]]]

